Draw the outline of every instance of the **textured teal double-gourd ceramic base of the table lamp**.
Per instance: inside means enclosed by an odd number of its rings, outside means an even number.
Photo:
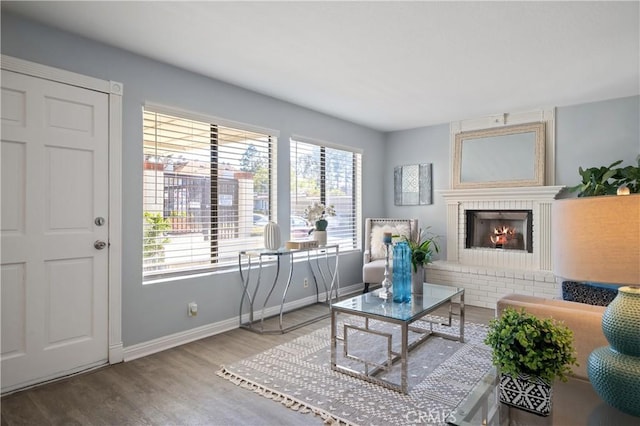
[[[611,346],[589,355],[587,372],[609,405],[640,417],[640,287],[620,287],[602,317]]]

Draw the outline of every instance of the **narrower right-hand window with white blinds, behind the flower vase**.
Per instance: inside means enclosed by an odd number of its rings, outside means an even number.
[[[300,229],[311,229],[304,209],[313,202],[333,205],[336,216],[328,217],[328,244],[340,250],[358,248],[362,155],[346,148],[327,146],[300,137],[291,140],[291,238]],[[295,223],[298,223],[296,225]]]

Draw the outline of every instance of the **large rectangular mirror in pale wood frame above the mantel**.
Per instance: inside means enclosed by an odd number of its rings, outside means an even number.
[[[544,185],[545,124],[456,134],[453,188]]]

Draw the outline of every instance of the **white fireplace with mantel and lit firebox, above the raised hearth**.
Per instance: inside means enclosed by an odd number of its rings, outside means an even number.
[[[550,274],[551,201],[561,189],[537,186],[439,191],[447,203],[447,262]],[[498,212],[503,217],[494,221]],[[467,237],[469,227],[472,236],[485,238],[484,243],[474,243]],[[495,243],[491,243],[491,236]]]

